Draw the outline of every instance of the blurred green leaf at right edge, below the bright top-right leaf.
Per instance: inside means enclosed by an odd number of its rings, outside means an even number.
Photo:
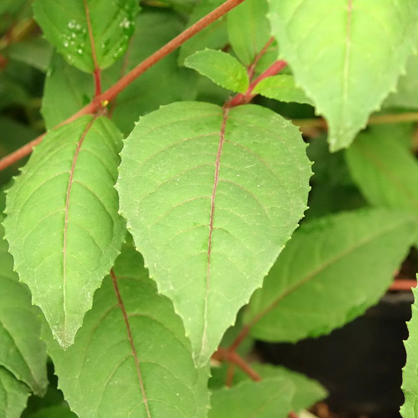
[[[361,133],[346,151],[351,176],[375,206],[408,211],[418,218],[418,162],[385,128]]]

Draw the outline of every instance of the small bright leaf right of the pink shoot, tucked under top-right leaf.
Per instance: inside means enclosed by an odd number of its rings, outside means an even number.
[[[290,74],[267,77],[255,86],[253,93],[261,94],[269,99],[313,105],[312,100],[306,97],[304,91],[295,85],[295,79]]]

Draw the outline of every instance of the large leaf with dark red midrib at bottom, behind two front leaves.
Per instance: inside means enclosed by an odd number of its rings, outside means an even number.
[[[44,337],[59,388],[83,418],[207,414],[208,369],[195,369],[180,318],[132,246],[95,293],[74,345],[63,351],[47,327]]]

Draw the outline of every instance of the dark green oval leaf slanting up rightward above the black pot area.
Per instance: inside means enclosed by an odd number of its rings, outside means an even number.
[[[416,229],[408,214],[383,209],[305,223],[251,298],[245,317],[251,334],[296,342],[363,314],[385,293]]]

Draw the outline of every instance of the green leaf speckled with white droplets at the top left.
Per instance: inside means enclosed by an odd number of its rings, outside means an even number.
[[[112,65],[126,50],[139,12],[136,0],[36,0],[35,19],[45,38],[75,67],[94,71]],[[89,27],[91,27],[91,32]],[[91,40],[92,39],[92,40]]]

